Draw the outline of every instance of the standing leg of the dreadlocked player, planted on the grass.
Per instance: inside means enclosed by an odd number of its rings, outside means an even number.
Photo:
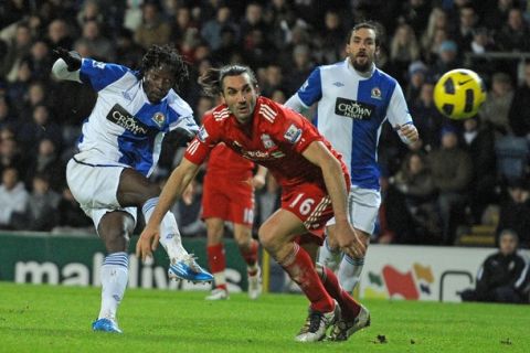
[[[125,211],[106,212],[100,218],[102,210],[93,213],[97,233],[105,244],[107,256],[102,266],[102,307],[94,331],[121,333],[117,325],[116,313],[121,302],[128,279],[127,248],[129,237],[135,229],[135,218]]]

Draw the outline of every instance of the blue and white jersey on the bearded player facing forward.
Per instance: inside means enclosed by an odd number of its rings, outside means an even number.
[[[386,119],[394,128],[412,124],[399,83],[375,66],[363,77],[347,58],[315,68],[286,105],[300,110],[300,105],[308,108],[316,101],[315,124],[342,154],[351,183],[379,190],[377,150],[382,124]]]

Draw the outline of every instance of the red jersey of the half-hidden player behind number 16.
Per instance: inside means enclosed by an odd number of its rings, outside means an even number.
[[[206,172],[215,175],[234,175],[251,179],[254,163],[237,154],[224,143],[213,148],[208,159]]]

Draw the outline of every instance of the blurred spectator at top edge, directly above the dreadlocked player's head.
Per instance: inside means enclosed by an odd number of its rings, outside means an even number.
[[[171,26],[162,19],[160,8],[155,2],[147,2],[141,8],[141,24],[135,31],[135,42],[145,50],[152,44],[167,44]]]

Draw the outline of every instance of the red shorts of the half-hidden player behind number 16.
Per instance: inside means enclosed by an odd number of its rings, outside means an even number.
[[[250,180],[206,173],[202,191],[202,218],[221,218],[252,226],[254,190]]]

